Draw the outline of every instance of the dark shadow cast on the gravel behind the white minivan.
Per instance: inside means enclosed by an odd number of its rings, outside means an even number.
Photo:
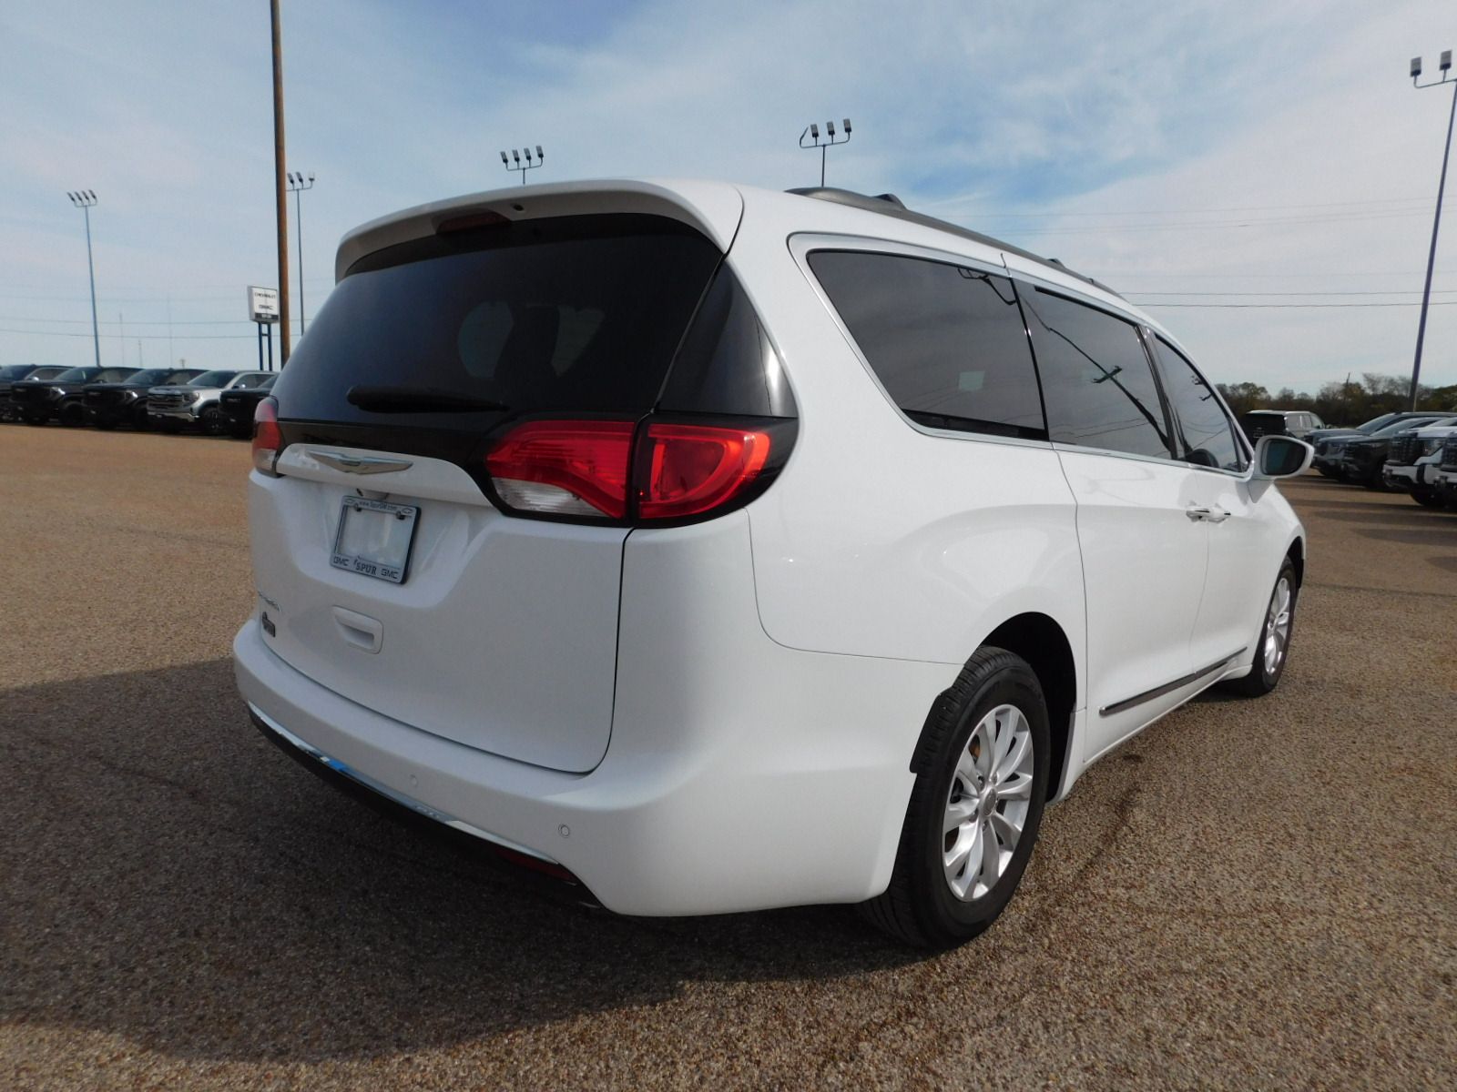
[[[644,920],[543,898],[288,761],[226,660],[0,695],[0,1022],[176,1057],[396,1056],[704,978],[919,958],[845,907]]]

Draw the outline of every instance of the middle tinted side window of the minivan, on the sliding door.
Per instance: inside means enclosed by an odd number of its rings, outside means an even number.
[[[1024,287],[1021,301],[1052,438],[1167,459],[1169,425],[1134,325],[1042,288]]]

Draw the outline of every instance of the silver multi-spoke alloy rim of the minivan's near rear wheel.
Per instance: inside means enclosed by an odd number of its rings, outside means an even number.
[[[972,728],[941,823],[941,866],[957,898],[981,898],[1011,863],[1032,802],[1034,759],[1032,727],[1014,705],[997,706]]]

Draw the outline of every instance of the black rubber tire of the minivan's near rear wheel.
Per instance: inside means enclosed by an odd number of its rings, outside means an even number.
[[[1023,713],[1030,729],[1033,769],[1027,812],[1011,859],[998,879],[982,895],[963,900],[951,890],[943,866],[943,855],[949,849],[944,831],[947,808],[953,788],[960,795],[957,763],[973,745],[973,729],[994,709],[1007,705]],[[890,887],[884,894],[861,903],[864,917],[898,941],[918,948],[950,948],[983,932],[1011,901],[1032,858],[1048,799],[1050,754],[1048,703],[1032,667],[1002,648],[978,649],[956,683],[937,699],[921,729],[911,764],[916,775],[915,786],[900,830]],[[992,811],[1005,807],[1005,802],[997,802]]]

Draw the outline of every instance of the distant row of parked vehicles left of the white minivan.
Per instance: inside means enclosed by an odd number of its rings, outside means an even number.
[[[275,371],[12,364],[0,367],[0,421],[246,438],[254,411],[277,377]]]

